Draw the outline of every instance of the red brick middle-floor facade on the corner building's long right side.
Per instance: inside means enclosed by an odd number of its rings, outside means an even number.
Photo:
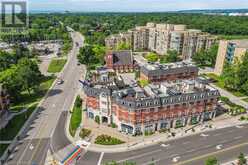
[[[211,112],[214,110],[216,103],[217,99],[208,100],[207,102],[201,101],[168,105],[167,107],[140,109],[136,110],[136,113],[128,112],[124,107],[114,104],[112,106],[112,113],[115,114],[120,121],[135,125],[138,123],[154,122],[162,119],[191,116],[206,111]]]

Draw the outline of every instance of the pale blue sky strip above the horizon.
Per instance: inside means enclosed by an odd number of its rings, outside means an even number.
[[[248,0],[28,0],[30,11],[156,12],[248,8]]]

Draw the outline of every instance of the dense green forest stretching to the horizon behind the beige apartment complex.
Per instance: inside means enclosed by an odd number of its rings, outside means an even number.
[[[88,43],[102,45],[106,36],[145,25],[147,22],[186,24],[188,28],[222,36],[248,35],[247,17],[173,13],[88,13],[60,15],[58,19],[81,31]]]

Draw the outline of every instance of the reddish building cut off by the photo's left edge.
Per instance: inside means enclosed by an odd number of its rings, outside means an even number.
[[[9,108],[9,96],[6,90],[0,84],[0,118],[7,112]]]

